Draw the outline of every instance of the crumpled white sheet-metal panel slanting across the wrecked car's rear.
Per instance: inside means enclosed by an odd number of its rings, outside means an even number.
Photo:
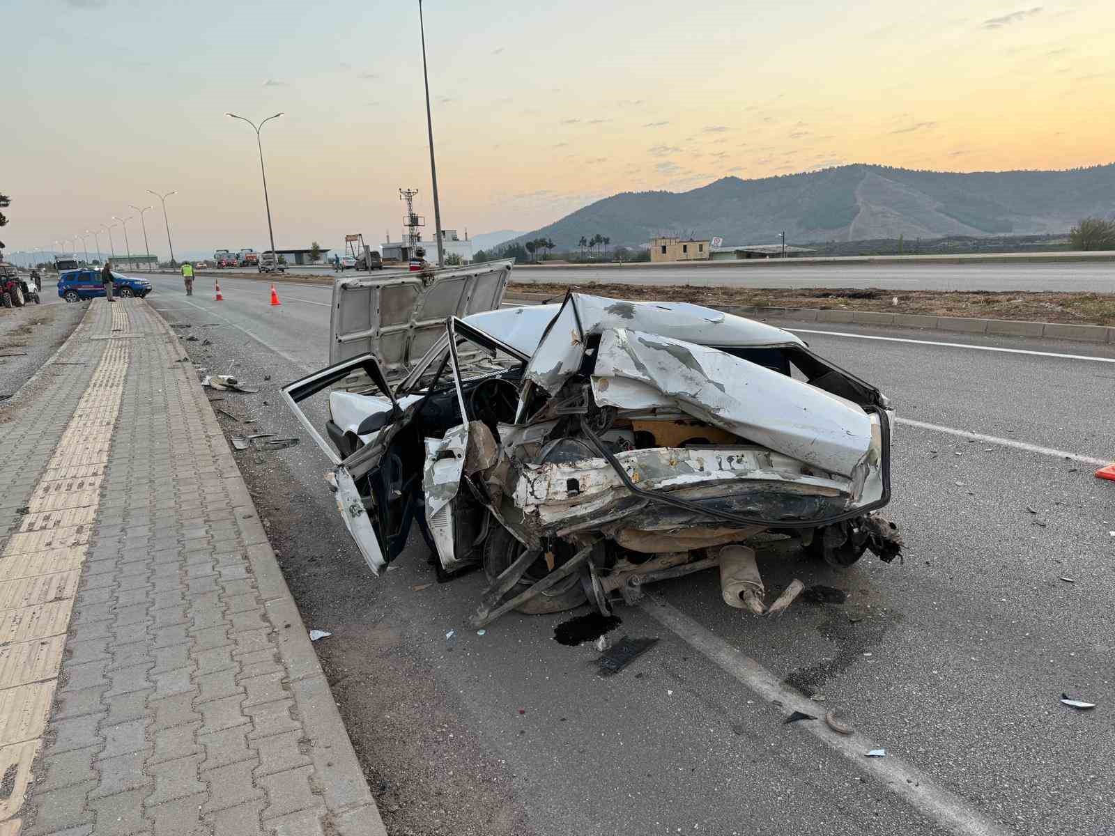
[[[644,331],[608,330],[597,352],[597,406],[644,408],[646,398],[634,406],[626,402],[624,392],[610,385],[617,379],[642,383],[661,392],[666,406],[843,476],[881,456],[871,417],[861,407],[717,349]]]

